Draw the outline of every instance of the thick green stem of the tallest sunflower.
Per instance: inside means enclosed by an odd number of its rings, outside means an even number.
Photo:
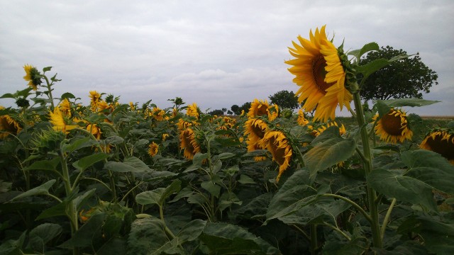
[[[362,162],[365,169],[366,177],[372,172],[372,153],[370,151],[369,145],[369,135],[365,128],[365,118],[364,111],[362,109],[361,98],[359,92],[353,93],[353,101],[355,102],[355,111],[356,111],[356,120],[358,121],[358,126],[360,127],[360,135],[362,141],[362,152],[364,158]],[[367,202],[369,204],[370,218],[371,218],[371,230],[372,230],[372,243],[375,247],[382,247],[382,237],[380,234],[380,223],[378,222],[378,209],[377,203],[377,193],[375,190],[367,185]]]

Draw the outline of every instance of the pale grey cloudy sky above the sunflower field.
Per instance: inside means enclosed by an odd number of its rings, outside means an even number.
[[[52,66],[88,103],[91,90],[122,103],[182,97],[202,111],[297,91],[287,47],[327,25],[334,43],[391,45],[438,74],[421,115],[454,115],[454,1],[0,0],[0,94],[24,89],[23,65]],[[11,102],[0,99],[0,105]],[[345,113],[348,114],[348,113]]]

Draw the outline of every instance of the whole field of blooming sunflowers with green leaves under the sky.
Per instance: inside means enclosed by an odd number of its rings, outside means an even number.
[[[84,105],[26,64],[28,85],[0,97],[16,102],[0,108],[0,254],[454,254],[454,125],[414,140],[402,107],[436,101],[360,101],[408,56],[360,66],[376,43],[344,52],[325,26],[297,39],[297,114],[98,91]]]

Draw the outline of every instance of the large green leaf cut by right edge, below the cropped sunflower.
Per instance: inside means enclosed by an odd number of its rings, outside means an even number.
[[[454,194],[454,166],[436,152],[426,149],[402,153],[402,162],[408,166],[405,176],[423,181],[433,188]]]

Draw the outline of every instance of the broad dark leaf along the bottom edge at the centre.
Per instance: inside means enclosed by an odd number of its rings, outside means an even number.
[[[211,254],[279,254],[260,237],[228,223],[207,223],[200,239]]]

